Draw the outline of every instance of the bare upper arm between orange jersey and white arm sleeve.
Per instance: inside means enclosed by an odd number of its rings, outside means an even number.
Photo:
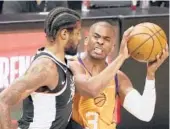
[[[119,80],[118,92],[119,92],[121,103],[123,103],[126,95],[129,93],[129,91],[133,89],[133,85],[130,79],[128,78],[128,76],[122,71],[118,71],[118,80]]]

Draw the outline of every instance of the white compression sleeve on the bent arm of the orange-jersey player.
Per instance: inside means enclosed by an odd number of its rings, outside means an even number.
[[[153,117],[156,103],[155,81],[146,80],[143,95],[135,89],[125,97],[123,107],[140,120],[149,122]]]

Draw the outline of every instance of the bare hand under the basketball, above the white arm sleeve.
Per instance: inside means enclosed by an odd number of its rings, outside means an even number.
[[[162,55],[157,55],[156,61],[154,62],[149,62],[147,64],[147,76],[155,76],[155,72],[157,69],[163,64],[163,62],[168,58],[169,56],[169,49],[168,45],[166,48],[163,50]]]

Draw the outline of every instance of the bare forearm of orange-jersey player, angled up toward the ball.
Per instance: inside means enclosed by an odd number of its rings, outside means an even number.
[[[90,78],[88,80],[88,86],[90,91],[94,91],[95,95],[101,90],[107,87],[110,80],[114,79],[117,71],[124,63],[124,57],[118,56],[112,63],[108,65],[100,74]]]

